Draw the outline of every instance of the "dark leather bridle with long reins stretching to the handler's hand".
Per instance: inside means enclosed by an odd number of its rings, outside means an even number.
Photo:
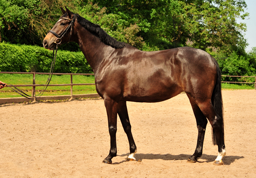
[[[55,65],[56,55],[57,55],[57,51],[58,51],[58,45],[61,44],[61,39],[67,33],[68,29],[71,27],[71,29],[70,29],[70,36],[69,36],[69,40],[68,40],[68,42],[70,42],[70,37],[71,37],[71,34],[72,34],[73,24],[74,24],[74,22],[76,20],[76,16],[74,16],[74,18],[72,20],[70,20],[69,18],[62,18],[62,19],[69,20],[71,23],[68,25],[68,27],[60,35],[56,34],[52,30],[49,31],[50,33],[54,34],[57,37],[57,39],[54,42],[56,44],[56,49],[53,49],[52,64],[51,64],[51,68],[50,68],[49,77],[48,77],[48,79],[46,81],[46,84],[44,85],[44,88],[42,89],[42,91],[38,95],[36,95],[36,96],[30,96],[30,95],[24,93],[22,90],[18,89],[17,87],[15,87],[14,85],[12,85],[10,83],[6,83],[6,84],[8,84],[8,85],[6,85],[6,87],[10,87],[16,93],[18,93],[18,94],[20,94],[23,97],[28,98],[28,99],[38,99],[39,97],[41,97],[43,95],[44,91],[46,90],[46,88],[48,87],[48,85],[49,85],[49,83],[50,83],[50,81],[52,79],[52,73],[53,73],[53,69],[54,69],[54,65]],[[56,50],[55,55],[54,55],[54,50]]]

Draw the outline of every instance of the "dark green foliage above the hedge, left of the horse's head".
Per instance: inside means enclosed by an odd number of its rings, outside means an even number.
[[[72,2],[72,3],[71,3]],[[0,42],[42,45],[60,17],[60,6],[72,0],[0,0]]]

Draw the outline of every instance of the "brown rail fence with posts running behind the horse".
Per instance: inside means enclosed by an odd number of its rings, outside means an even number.
[[[11,74],[32,74],[33,84],[32,85],[14,85],[15,87],[33,87],[32,96],[36,95],[36,87],[44,86],[36,84],[36,74],[49,75],[50,73],[40,73],[40,72],[0,72],[0,73],[11,73]],[[48,86],[69,86],[70,85],[70,95],[73,96],[73,86],[74,85],[95,85],[95,83],[73,83],[73,75],[94,75],[94,73],[53,73],[52,75],[70,75],[70,83],[68,84],[49,84]],[[223,77],[254,77],[255,82],[236,82],[236,81],[222,81],[222,83],[250,83],[254,84],[254,89],[256,90],[256,76],[234,76],[234,75],[222,75]]]

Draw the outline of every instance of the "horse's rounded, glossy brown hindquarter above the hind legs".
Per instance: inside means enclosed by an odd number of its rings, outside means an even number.
[[[201,49],[180,47],[177,58],[182,63],[182,89],[198,102],[210,99],[217,78],[210,54]]]

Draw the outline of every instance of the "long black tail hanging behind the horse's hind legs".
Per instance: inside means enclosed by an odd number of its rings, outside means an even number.
[[[219,67],[216,59],[214,59],[212,57],[212,60],[214,61],[215,65],[216,65],[216,69],[217,69],[217,81],[216,81],[214,90],[212,92],[212,105],[215,108],[215,111],[217,112],[219,117],[221,118],[220,122],[222,125],[222,132],[223,132],[223,137],[224,137],[223,103],[222,103],[222,94],[221,94],[221,72],[220,72],[220,67]],[[213,129],[212,129],[212,143],[214,145],[217,144],[215,132]]]

